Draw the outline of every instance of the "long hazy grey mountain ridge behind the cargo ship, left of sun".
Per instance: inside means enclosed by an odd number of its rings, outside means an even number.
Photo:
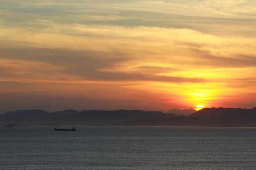
[[[119,125],[127,121],[147,118],[176,117],[161,111],[143,110],[63,110],[48,113],[43,110],[16,110],[0,115],[1,124],[74,124]]]

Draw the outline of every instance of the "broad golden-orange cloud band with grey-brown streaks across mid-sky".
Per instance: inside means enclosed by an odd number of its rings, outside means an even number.
[[[25,69],[33,70],[29,73],[34,74],[31,77],[39,73],[33,67],[36,65],[49,68],[54,78],[73,75],[78,80],[94,81],[205,82],[209,77],[186,72],[253,67],[256,60],[253,38],[218,37],[190,29],[52,23],[41,32],[21,28],[1,30],[8,37],[2,40],[5,42],[1,47],[2,59],[12,60],[9,63],[31,61],[32,67],[16,68],[23,73]],[[49,66],[39,66],[39,62]]]

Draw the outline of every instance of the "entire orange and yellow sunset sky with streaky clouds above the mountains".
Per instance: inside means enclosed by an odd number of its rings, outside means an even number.
[[[256,106],[254,0],[1,0],[0,113]]]

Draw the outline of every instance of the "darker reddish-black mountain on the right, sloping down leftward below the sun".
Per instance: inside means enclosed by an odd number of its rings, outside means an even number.
[[[177,109],[178,110],[178,109]],[[174,110],[175,111],[175,110]],[[192,118],[192,119],[191,119]],[[133,126],[256,126],[256,107],[241,108],[204,108],[188,117],[150,118],[125,122]]]

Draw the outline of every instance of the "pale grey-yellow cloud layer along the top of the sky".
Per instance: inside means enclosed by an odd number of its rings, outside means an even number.
[[[9,26],[42,29],[58,24],[189,28],[210,34],[253,33],[255,2],[191,1],[1,1]],[[0,3],[0,4],[1,4]],[[5,22],[5,23],[6,23]],[[47,27],[47,26],[46,26]],[[239,27],[237,29],[237,27]],[[246,30],[244,30],[246,28]],[[229,30],[229,31],[228,31]],[[230,31],[232,30],[232,31]]]

